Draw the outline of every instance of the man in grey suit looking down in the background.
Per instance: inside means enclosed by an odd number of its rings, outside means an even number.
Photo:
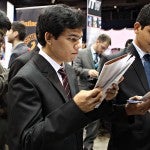
[[[73,61],[73,68],[78,76],[78,86],[80,90],[93,89],[98,78],[98,68],[102,53],[111,45],[111,38],[106,34],[101,34],[92,46],[81,49]],[[99,130],[99,120],[89,124],[85,130],[84,150],[92,150],[94,139]]]

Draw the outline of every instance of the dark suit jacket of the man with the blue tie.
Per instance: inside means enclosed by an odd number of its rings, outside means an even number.
[[[124,74],[124,80],[120,84],[120,89],[116,97],[115,104],[120,107],[126,103],[126,100],[134,95],[144,95],[150,91],[146,79],[145,71],[139,54],[133,44],[117,56],[124,53],[132,53],[136,59],[131,67]],[[114,56],[103,58],[103,63],[112,59]],[[120,122],[112,121],[112,132],[108,150],[150,150],[150,113],[143,116],[122,115]]]

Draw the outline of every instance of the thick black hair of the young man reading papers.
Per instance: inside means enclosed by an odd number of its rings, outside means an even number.
[[[57,39],[65,29],[83,28],[85,24],[86,17],[81,10],[64,4],[51,5],[38,18],[36,26],[38,42],[45,46],[45,32],[50,32]]]

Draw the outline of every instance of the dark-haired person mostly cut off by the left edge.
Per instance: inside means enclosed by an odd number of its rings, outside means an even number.
[[[6,31],[11,28],[11,22],[6,14],[0,10],[0,41],[4,41]],[[0,42],[0,43],[1,43]],[[0,44],[0,48],[1,48]],[[7,110],[6,110],[6,89],[8,70],[0,64],[0,150],[5,149],[7,143]]]

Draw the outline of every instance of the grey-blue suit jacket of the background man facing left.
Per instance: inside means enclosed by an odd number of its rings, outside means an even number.
[[[9,64],[8,64],[8,68],[10,68],[11,64],[13,63],[13,61],[19,57],[20,55],[28,52],[30,50],[30,48],[25,44],[25,43],[20,43],[18,44],[15,49],[13,49],[13,52],[10,56],[10,60],[9,60]]]

